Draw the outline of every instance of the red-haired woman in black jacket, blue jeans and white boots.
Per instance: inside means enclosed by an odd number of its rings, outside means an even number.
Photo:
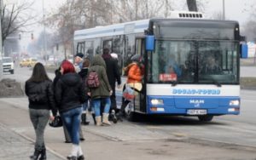
[[[67,60],[61,64],[61,74],[55,86],[55,100],[73,143],[71,155],[67,158],[82,160],[84,155],[79,146],[79,125],[82,104],[85,101],[84,83],[79,74],[75,72],[73,64]]]

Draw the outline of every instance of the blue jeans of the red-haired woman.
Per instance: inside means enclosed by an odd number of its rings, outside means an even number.
[[[82,107],[77,107],[61,113],[63,123],[67,127],[67,132],[70,135],[72,143],[75,145],[79,145],[79,125],[81,114]]]

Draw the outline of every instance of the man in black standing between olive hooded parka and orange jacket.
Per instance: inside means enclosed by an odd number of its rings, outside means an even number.
[[[103,49],[102,58],[105,60],[108,82],[113,90],[113,94],[110,96],[110,100],[111,100],[110,111],[112,111],[112,110],[116,110],[117,108],[116,100],[115,100],[115,83],[116,82],[118,83],[118,88],[119,88],[119,85],[121,84],[119,66],[118,66],[117,60],[114,60],[111,54],[109,53],[108,48]]]

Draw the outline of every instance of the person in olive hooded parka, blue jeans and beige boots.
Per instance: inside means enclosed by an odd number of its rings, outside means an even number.
[[[91,98],[92,106],[94,107],[96,115],[96,126],[101,126],[102,124],[111,125],[108,121],[109,109],[111,106],[110,95],[113,94],[110,84],[108,83],[108,76],[106,72],[106,64],[102,59],[102,56],[96,54],[91,62],[89,68],[90,72],[95,71],[97,73],[100,85],[97,88],[89,89],[89,95]],[[104,104],[103,113],[101,116],[101,102]]]

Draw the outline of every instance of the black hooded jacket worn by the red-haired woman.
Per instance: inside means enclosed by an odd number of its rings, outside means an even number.
[[[78,73],[67,73],[55,86],[55,100],[60,112],[81,107],[85,101],[84,83]]]

